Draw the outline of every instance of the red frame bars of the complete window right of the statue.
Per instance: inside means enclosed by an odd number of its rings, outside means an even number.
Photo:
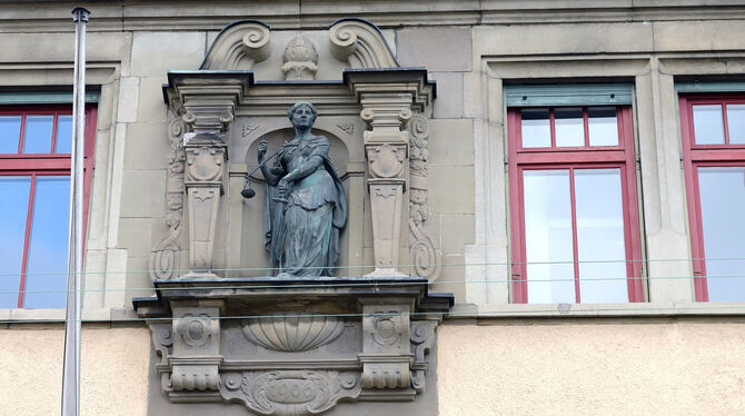
[[[580,107],[580,106],[572,106]],[[589,146],[587,107],[616,107],[618,122],[618,146]],[[623,195],[624,235],[626,248],[626,274],[629,301],[645,301],[642,281],[642,236],[636,192],[636,159],[634,157],[634,133],[632,108],[629,106],[583,106],[585,145],[582,147],[557,147],[554,125],[554,109],[549,109],[552,146],[524,148],[522,137],[522,108],[507,111],[509,147],[509,208],[511,227],[511,276],[513,303],[527,304],[527,264],[525,245],[525,210],[523,195],[523,172],[525,170],[568,169],[570,171],[572,222],[575,273],[575,301],[580,303],[579,264],[577,261],[576,204],[574,197],[574,169],[619,168]]]

